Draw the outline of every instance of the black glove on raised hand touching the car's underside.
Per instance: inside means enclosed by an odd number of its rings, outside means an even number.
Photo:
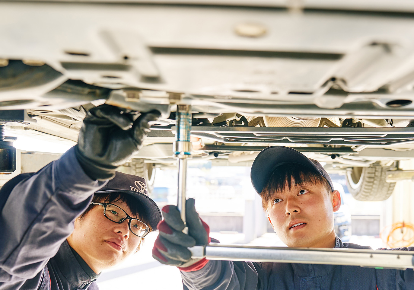
[[[150,131],[148,122],[160,116],[155,110],[140,114],[106,104],[89,110],[75,147],[82,169],[94,180],[113,178],[115,169],[142,147]]]

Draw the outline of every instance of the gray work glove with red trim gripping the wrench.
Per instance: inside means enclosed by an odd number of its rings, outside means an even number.
[[[178,266],[181,270],[195,271],[191,266],[202,267],[205,259],[191,259],[187,247],[203,246],[210,242],[208,225],[203,222],[195,211],[194,198],[188,198],[185,203],[185,218],[188,234],[184,234],[184,222],[175,205],[166,205],[162,209],[164,220],[158,224],[159,235],[155,240],[152,256],[162,264]],[[204,265],[203,261],[206,261]],[[186,270],[184,270],[186,271]]]

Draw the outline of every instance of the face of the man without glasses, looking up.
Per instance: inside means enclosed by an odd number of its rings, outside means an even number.
[[[268,218],[277,236],[288,247],[335,247],[333,212],[339,210],[338,191],[319,182],[275,192],[267,205]]]

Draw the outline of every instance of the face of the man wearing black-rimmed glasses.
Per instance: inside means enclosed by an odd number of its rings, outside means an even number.
[[[134,217],[125,203],[113,204]],[[75,221],[75,230],[67,241],[95,273],[100,273],[137,251],[141,238],[130,232],[128,221],[112,222],[103,215],[103,206],[95,205],[82,220]]]

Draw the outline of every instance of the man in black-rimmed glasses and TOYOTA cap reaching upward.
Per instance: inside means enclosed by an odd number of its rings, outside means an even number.
[[[2,186],[0,290],[96,290],[103,269],[139,249],[161,212],[144,179],[116,169],[159,116],[95,107],[75,147]]]

